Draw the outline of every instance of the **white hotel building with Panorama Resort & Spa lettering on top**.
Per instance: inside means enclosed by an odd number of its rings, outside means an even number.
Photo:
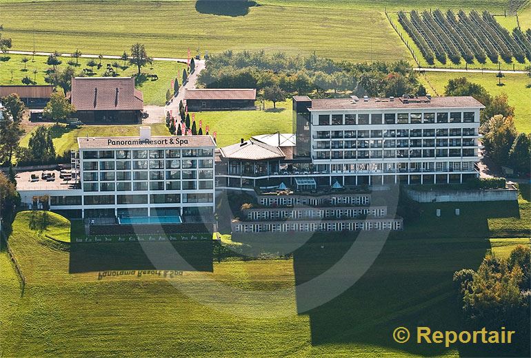
[[[77,141],[73,179],[64,182],[58,174],[32,182],[24,173],[18,182],[22,202],[40,206],[45,198],[50,209],[82,218],[212,217],[211,136],[151,136],[150,127],[141,127],[139,137]]]

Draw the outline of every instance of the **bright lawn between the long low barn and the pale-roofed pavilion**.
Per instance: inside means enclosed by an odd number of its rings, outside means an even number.
[[[217,133],[218,147],[239,143],[240,138],[248,139],[257,134],[292,133],[291,101],[277,103],[277,109],[266,102],[265,108],[265,111],[197,112],[195,120],[203,120],[203,130],[208,125],[209,134]]]

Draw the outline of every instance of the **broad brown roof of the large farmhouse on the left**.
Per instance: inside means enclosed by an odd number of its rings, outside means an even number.
[[[143,109],[142,92],[132,77],[72,78],[70,98],[77,111]]]

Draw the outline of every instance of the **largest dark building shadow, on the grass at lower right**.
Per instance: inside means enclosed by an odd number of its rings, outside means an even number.
[[[441,217],[436,206],[442,206]],[[514,215],[518,207],[512,204],[433,203],[421,205],[419,219],[406,221],[405,231],[392,232],[386,240],[381,232],[314,234],[293,253],[297,309],[310,318],[312,345],[354,343],[423,356],[455,349],[468,354],[466,347],[417,344],[416,330],[463,330],[453,274],[481,264],[490,249],[488,218]],[[358,276],[381,240],[376,259]],[[321,277],[326,280],[319,282]],[[320,297],[338,287],[338,295]],[[319,299],[324,303],[316,306]],[[398,327],[408,328],[412,339],[394,341]]]

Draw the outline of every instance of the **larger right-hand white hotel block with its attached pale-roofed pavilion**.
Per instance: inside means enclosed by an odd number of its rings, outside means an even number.
[[[295,96],[293,145],[279,134],[278,145],[252,138],[221,148],[219,188],[465,182],[478,176],[483,108],[470,96]]]

